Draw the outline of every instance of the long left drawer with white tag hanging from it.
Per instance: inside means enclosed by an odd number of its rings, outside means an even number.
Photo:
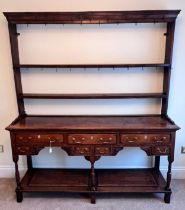
[[[18,134],[16,135],[16,145],[60,146],[63,143],[62,134]]]

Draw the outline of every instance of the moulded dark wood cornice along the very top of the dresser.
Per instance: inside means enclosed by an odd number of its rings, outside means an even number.
[[[12,24],[111,24],[175,21],[180,10],[4,12]]]

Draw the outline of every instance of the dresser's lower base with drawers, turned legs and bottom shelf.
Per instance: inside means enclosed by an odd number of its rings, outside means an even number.
[[[178,127],[165,116],[24,116],[7,129],[11,131],[18,202],[22,201],[22,192],[33,191],[87,192],[92,203],[98,192],[163,192],[165,202],[170,201],[174,133]],[[44,147],[53,146],[61,147],[68,155],[85,156],[91,163],[89,174],[70,171],[66,175],[65,170],[28,168],[20,181],[18,156],[37,155]],[[149,171],[136,169],[134,173],[125,170],[97,173],[94,163],[100,156],[116,155],[126,146],[140,147],[150,156],[168,156],[167,181],[156,166]],[[80,180],[88,181],[81,186]]]

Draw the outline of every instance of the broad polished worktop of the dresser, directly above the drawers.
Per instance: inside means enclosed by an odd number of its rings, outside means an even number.
[[[169,118],[153,116],[23,116],[7,130],[178,130]]]

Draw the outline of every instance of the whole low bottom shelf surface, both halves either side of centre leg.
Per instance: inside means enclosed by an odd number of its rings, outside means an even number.
[[[98,183],[95,193],[143,192],[143,189],[151,193],[167,192],[166,181],[154,169],[96,169],[95,174]],[[116,179],[111,178],[115,176]],[[89,169],[33,169],[22,179],[21,191],[89,192],[89,180]]]

